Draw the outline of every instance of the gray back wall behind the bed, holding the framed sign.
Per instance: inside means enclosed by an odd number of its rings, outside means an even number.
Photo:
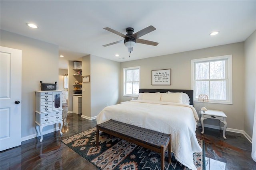
[[[148,59],[121,63],[120,68],[120,102],[131,100],[123,96],[123,68],[140,66],[140,88],[191,89],[191,60],[222,55],[233,55],[233,104],[205,103],[208,109],[222,110],[226,115],[228,128],[244,130],[244,43],[221,45],[183,53],[176,53]],[[171,86],[152,86],[151,70],[171,68]],[[202,103],[194,102],[199,113]],[[200,116],[200,115],[199,115]],[[214,120],[206,120],[205,124],[218,126]]]

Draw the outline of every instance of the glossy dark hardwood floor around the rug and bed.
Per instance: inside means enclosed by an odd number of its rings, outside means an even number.
[[[96,126],[96,120],[86,120],[75,113],[63,115],[65,122],[59,131],[39,138],[23,141],[20,147],[0,152],[1,170],[98,170],[93,164],[60,142],[81,131]],[[256,162],[251,158],[251,143],[242,134],[226,132],[227,139],[222,137],[222,131],[205,128],[204,135],[198,127],[196,136],[204,139],[206,156],[225,163],[226,170],[256,170]],[[222,163],[222,165],[224,164]],[[212,163],[210,170],[216,170],[217,164]]]

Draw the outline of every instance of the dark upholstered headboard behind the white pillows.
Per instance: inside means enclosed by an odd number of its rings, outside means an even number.
[[[193,106],[194,103],[194,91],[193,90],[177,90],[177,89],[152,89],[152,88],[140,88],[139,89],[139,93],[156,93],[156,92],[160,92],[160,93],[166,93],[166,92],[183,92],[188,94],[188,97],[190,98],[189,100],[189,104]]]

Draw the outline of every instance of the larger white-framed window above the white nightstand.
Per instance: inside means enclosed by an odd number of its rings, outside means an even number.
[[[206,94],[209,102],[232,104],[232,55],[191,61],[194,101]]]

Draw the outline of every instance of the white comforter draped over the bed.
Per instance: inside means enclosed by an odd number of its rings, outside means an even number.
[[[194,107],[169,102],[131,100],[105,107],[97,124],[110,119],[172,135],[172,152],[176,160],[196,170],[192,154],[202,149],[196,139],[198,114]]]

